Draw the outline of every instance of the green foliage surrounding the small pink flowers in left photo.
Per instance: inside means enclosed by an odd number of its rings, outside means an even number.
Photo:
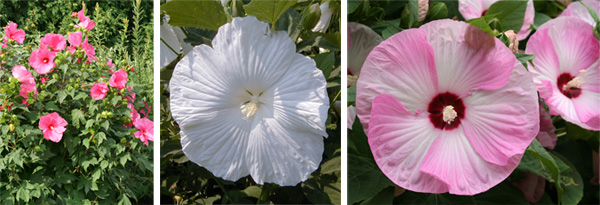
[[[136,109],[153,102],[152,1],[2,1],[0,26],[17,23],[27,34],[23,45],[4,50],[0,71],[0,98],[13,102],[0,112],[0,204],[131,204],[152,203],[152,142],[146,147],[123,126],[130,113],[122,95],[111,88],[105,99],[91,99],[89,86],[115,69],[133,66],[127,85],[134,87]],[[74,32],[71,17],[86,7],[86,16],[96,22],[86,32],[96,50],[92,64],[67,63],[64,57],[56,71],[38,75],[27,59],[46,33]],[[0,33],[4,33],[4,30]],[[62,53],[66,53],[63,51]],[[62,54],[59,54],[62,55]],[[58,59],[58,58],[57,58]],[[25,65],[36,78],[37,100],[21,104],[18,83],[10,83],[14,65]],[[125,89],[126,90],[126,89]],[[69,125],[60,142],[44,139],[39,118],[57,112]],[[109,114],[110,113],[110,114]],[[152,113],[148,116],[152,120]],[[15,125],[14,131],[9,124]]]

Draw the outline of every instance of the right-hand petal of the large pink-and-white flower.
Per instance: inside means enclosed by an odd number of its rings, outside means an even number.
[[[520,62],[514,66],[503,88],[476,90],[463,99],[465,135],[481,158],[501,166],[523,154],[540,129],[536,87]]]

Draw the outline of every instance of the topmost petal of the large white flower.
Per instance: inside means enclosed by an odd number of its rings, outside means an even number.
[[[222,73],[237,78],[246,90],[256,94],[273,86],[290,69],[296,46],[284,31],[271,31],[256,17],[235,18],[225,24],[212,41],[222,53]]]

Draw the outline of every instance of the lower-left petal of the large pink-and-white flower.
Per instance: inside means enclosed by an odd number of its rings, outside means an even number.
[[[446,184],[421,172],[423,157],[441,133],[428,113],[411,113],[396,98],[381,94],[373,100],[369,145],[381,171],[392,182],[417,192],[444,193]]]

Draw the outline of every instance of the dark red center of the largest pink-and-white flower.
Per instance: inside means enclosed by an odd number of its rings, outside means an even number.
[[[445,92],[431,100],[427,112],[433,126],[441,130],[452,130],[457,128],[460,120],[465,117],[465,105],[454,93]]]

